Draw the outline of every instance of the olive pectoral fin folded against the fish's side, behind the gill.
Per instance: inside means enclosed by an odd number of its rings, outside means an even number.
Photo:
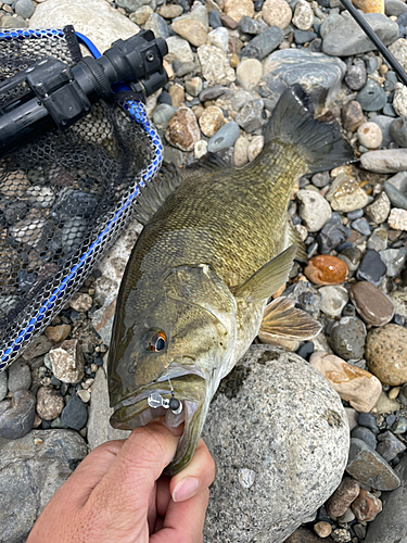
[[[247,302],[257,302],[271,296],[287,281],[295,253],[296,245],[285,249],[238,287],[233,292],[234,296],[245,298]]]

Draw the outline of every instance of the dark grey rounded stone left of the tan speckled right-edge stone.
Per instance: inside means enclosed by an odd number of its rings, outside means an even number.
[[[366,327],[356,317],[343,317],[336,323],[330,337],[333,351],[345,361],[358,361],[364,356]]]

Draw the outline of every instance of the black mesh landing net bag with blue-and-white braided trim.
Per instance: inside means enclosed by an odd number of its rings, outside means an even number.
[[[80,59],[72,27],[1,33],[0,83],[49,55]],[[24,92],[0,93],[0,110]],[[80,287],[130,218],[137,185],[160,165],[143,106],[117,97],[0,160],[0,369]]]

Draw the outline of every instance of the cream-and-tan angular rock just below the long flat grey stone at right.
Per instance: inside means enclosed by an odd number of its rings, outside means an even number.
[[[356,179],[347,174],[340,174],[333,180],[326,194],[332,210],[349,213],[365,207],[369,202],[367,193],[359,187]]]

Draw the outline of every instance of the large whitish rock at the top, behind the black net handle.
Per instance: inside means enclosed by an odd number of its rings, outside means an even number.
[[[47,0],[37,5],[30,28],[63,28],[74,25],[103,52],[117,39],[127,39],[140,28],[105,0]]]

